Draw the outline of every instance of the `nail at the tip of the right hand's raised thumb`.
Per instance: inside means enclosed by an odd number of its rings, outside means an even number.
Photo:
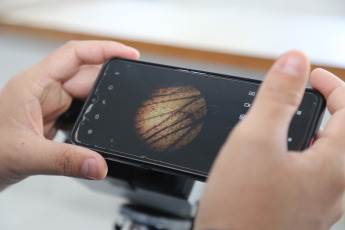
[[[307,70],[306,58],[299,52],[289,52],[283,55],[276,65],[280,71],[296,77],[303,76]]]

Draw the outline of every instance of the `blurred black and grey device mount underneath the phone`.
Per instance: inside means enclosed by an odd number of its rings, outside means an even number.
[[[74,100],[57,122],[67,140],[82,106],[82,101]],[[128,203],[119,207],[115,230],[192,229],[205,183],[115,161],[107,163],[105,180],[81,182],[94,190],[127,199]]]

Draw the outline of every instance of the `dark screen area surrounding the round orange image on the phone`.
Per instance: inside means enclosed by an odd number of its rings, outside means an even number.
[[[153,90],[180,85],[192,85],[203,95],[207,106],[203,128],[192,142],[176,151],[148,150],[135,133],[136,111]],[[230,130],[249,109],[258,87],[257,82],[114,59],[104,68],[85,103],[76,140],[107,153],[208,173]],[[302,115],[308,117],[313,113],[315,98],[312,94],[306,97],[309,99],[303,101]],[[294,141],[289,148],[298,149],[309,123],[302,118],[293,123],[298,129],[290,130]]]

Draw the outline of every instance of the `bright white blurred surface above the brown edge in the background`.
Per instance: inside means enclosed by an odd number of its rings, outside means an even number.
[[[342,0],[2,1],[9,23],[268,58],[294,48],[345,68]]]

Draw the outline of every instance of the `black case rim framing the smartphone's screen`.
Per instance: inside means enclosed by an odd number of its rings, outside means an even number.
[[[96,152],[99,152],[100,154],[102,154],[104,156],[105,159],[108,159],[108,160],[113,160],[113,161],[117,161],[120,163],[141,167],[141,168],[148,169],[148,170],[156,170],[156,171],[160,171],[160,172],[164,172],[164,173],[182,175],[182,176],[190,177],[192,179],[205,181],[207,176],[208,176],[208,173],[205,173],[205,172],[191,170],[191,169],[186,168],[186,167],[179,167],[178,165],[167,164],[164,162],[151,161],[151,160],[148,160],[147,158],[133,157],[131,155],[123,154],[123,153],[115,151],[115,150],[113,151],[113,150],[110,150],[107,148],[102,148],[102,147],[88,144],[88,143],[81,143],[77,140],[76,134],[78,132],[78,125],[80,124],[80,122],[82,122],[83,116],[86,113],[86,111],[88,109],[88,105],[90,104],[90,102],[95,100],[94,92],[95,92],[95,90],[97,90],[98,84],[101,82],[102,77],[104,76],[105,71],[107,70],[108,66],[113,61],[117,61],[117,60],[133,63],[134,65],[135,64],[141,64],[141,65],[149,65],[149,66],[153,66],[153,67],[159,67],[159,68],[163,68],[163,69],[185,71],[185,72],[188,72],[191,74],[201,75],[201,76],[202,75],[211,75],[211,76],[215,76],[217,78],[234,79],[236,81],[244,82],[244,83],[248,83],[248,84],[254,83],[254,84],[259,85],[261,83],[261,81],[252,80],[252,79],[245,79],[242,77],[235,77],[235,76],[224,75],[224,74],[218,74],[218,73],[211,73],[211,72],[200,71],[200,70],[193,70],[193,69],[187,69],[187,68],[180,68],[180,67],[173,67],[173,66],[155,64],[155,63],[149,63],[149,62],[144,62],[144,61],[128,60],[128,59],[123,59],[123,58],[112,58],[112,59],[108,60],[103,65],[103,67],[99,73],[99,76],[98,76],[92,90],[90,91],[90,94],[89,94],[89,96],[88,96],[88,98],[84,104],[84,107],[81,110],[81,112],[78,116],[78,119],[74,125],[74,128],[73,128],[72,133],[71,133],[71,137],[70,137],[70,142],[72,144],[83,146],[83,147],[92,149]],[[134,90],[133,92],[135,92],[135,89],[133,89],[133,90]],[[303,137],[303,140],[304,140],[303,144],[300,145],[300,147],[298,149],[294,149],[297,151],[306,149],[310,146],[311,142],[313,141],[314,137],[317,134],[317,131],[318,131],[319,126],[321,124],[321,120],[322,120],[323,113],[325,110],[325,100],[324,100],[323,96],[318,91],[308,88],[308,89],[306,89],[306,93],[310,93],[310,94],[315,95],[315,97],[317,98],[317,100],[316,100],[317,102],[316,102],[315,111],[313,113],[313,117],[311,118],[310,123],[309,123],[307,134],[306,134],[306,136]],[[216,155],[217,155],[217,153],[216,153]]]

